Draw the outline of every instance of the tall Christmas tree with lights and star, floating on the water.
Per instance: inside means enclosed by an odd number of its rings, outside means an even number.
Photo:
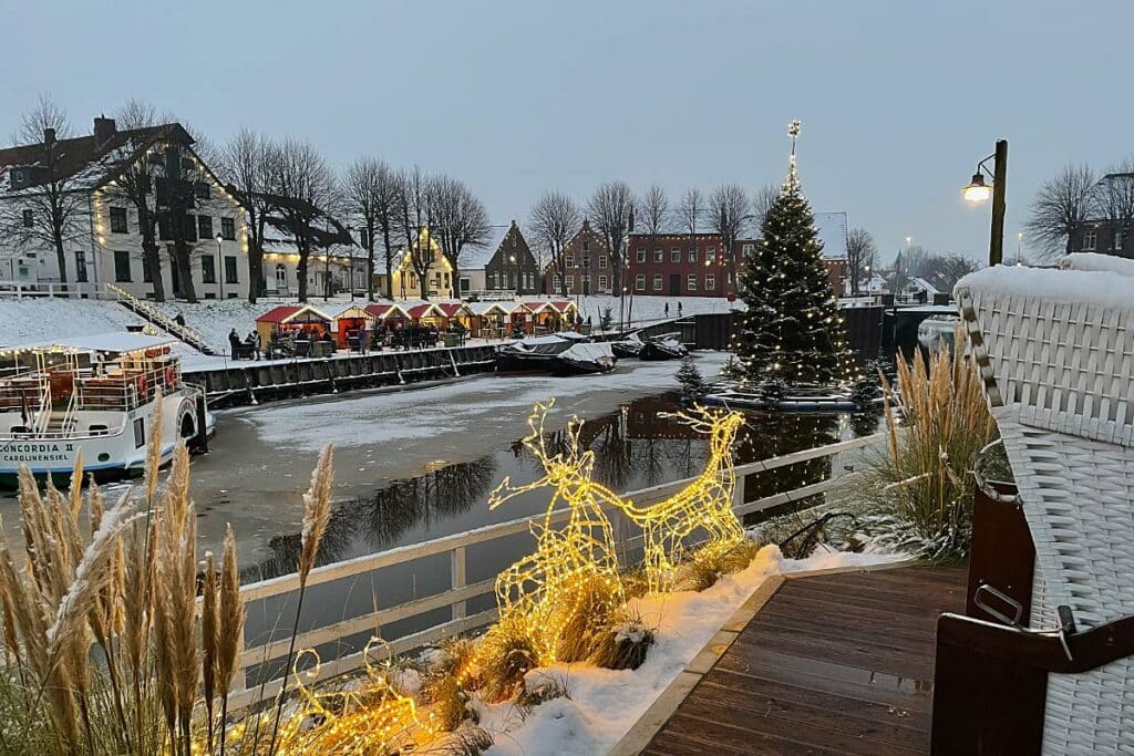
[[[741,383],[845,383],[857,376],[843,317],[823,264],[823,245],[795,165],[799,121],[793,121],[787,180],[746,258],[738,294],[747,305],[733,351]]]

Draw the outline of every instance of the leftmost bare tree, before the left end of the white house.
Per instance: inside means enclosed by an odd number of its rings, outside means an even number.
[[[0,240],[16,247],[54,249],[59,280],[67,283],[67,246],[83,238],[90,188],[68,164],[59,141],[71,136],[67,114],[46,95],[24,113],[14,146],[35,145],[25,180],[9,185],[0,202]],[[12,171],[9,171],[11,176]]]

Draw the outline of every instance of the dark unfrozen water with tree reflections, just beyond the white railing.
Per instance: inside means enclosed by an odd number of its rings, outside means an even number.
[[[649,397],[624,405],[617,413],[587,421],[581,444],[594,451],[594,477],[616,492],[634,491],[699,475],[709,458],[706,439],[667,417],[678,409],[677,394]],[[833,443],[840,438],[872,433],[877,416],[751,413],[737,434],[737,465]],[[547,440],[552,453],[566,443],[566,432]],[[745,499],[798,487],[823,477],[829,460],[810,460],[750,478]],[[519,441],[469,462],[457,462],[414,478],[395,481],[366,498],[340,502],[323,536],[319,563],[341,561],[418,543],[543,510],[548,492],[532,492],[489,512],[488,494],[506,475],[522,485],[542,474]],[[299,553],[299,534],[279,535],[270,555],[245,571],[246,580],[290,572]]]

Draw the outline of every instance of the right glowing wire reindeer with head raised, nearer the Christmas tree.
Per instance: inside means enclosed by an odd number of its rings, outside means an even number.
[[[733,511],[736,473],[733,468],[733,439],[744,424],[739,413],[695,407],[672,413],[689,427],[709,436],[709,461],[692,483],[657,504],[638,507],[613,496],[623,513],[642,528],[645,576],[650,591],[672,587],[675,566],[684,541],[699,528],[708,535],[701,546],[708,557],[721,555],[744,541],[744,528]]]

